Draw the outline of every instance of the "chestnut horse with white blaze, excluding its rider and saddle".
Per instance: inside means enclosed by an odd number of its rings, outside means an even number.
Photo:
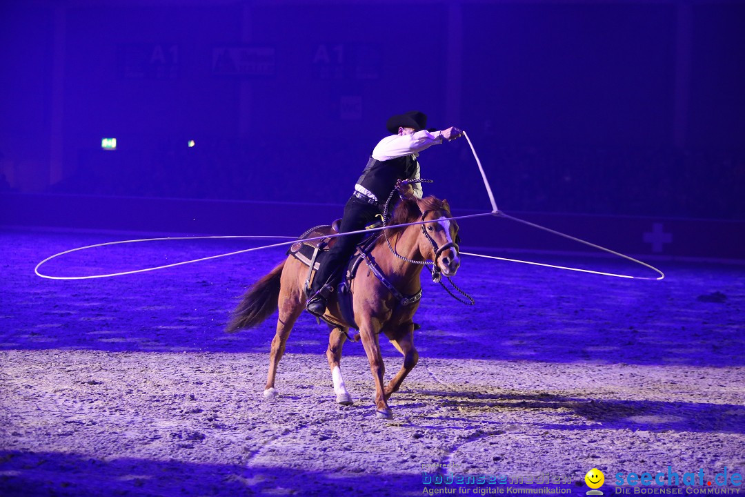
[[[389,227],[385,231],[390,244],[386,237],[381,235],[375,241],[373,249],[369,250],[373,265],[377,264],[378,272],[392,285],[392,289],[375,276],[375,268],[358,270],[350,284],[354,320],[359,326],[359,335],[355,337],[355,341],[361,339],[367,359],[370,361],[370,370],[375,379],[377,417],[393,417],[387,401],[393,392],[399,390],[419,359],[413,344],[413,316],[419,307],[419,274],[422,272],[422,263],[432,261],[434,271],[445,276],[453,276],[460,267],[458,247],[454,242],[458,225],[455,221],[448,221],[445,218],[451,218],[447,200],[438,200],[435,197],[408,197],[400,200],[393,209],[393,225],[415,221],[431,222]],[[392,250],[396,250],[400,255],[397,256]],[[366,263],[370,268],[370,260],[366,260]],[[277,365],[285,352],[285,344],[292,326],[305,309],[307,297],[303,288],[307,273],[306,265],[293,256],[288,256],[282,264],[248,289],[226,327],[228,332],[251,328],[266,320],[279,308],[264,396],[276,396],[274,381]],[[352,397],[346,391],[341,376],[340,360],[342,346],[353,323],[344,320],[335,296],[329,298],[323,319],[329,323],[331,329],[326,357],[332,370],[337,402],[352,404]],[[378,335],[381,333],[404,355],[401,370],[387,385],[383,382],[385,366],[378,342]]]

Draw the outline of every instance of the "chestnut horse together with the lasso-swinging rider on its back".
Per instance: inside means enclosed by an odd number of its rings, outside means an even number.
[[[340,229],[329,226],[308,230],[288,251],[285,261],[251,285],[233,311],[226,326],[228,332],[253,328],[279,310],[264,387],[267,398],[278,395],[275,388],[277,367],[291,329],[306,308],[310,294],[308,311],[329,325],[326,358],[337,402],[342,405],[354,402],[346,391],[340,369],[342,347],[353,327],[359,329],[359,335],[353,339],[362,342],[375,379],[375,416],[383,419],[393,416],[387,401],[399,390],[419,359],[413,344],[416,329],[413,317],[422,296],[419,274],[425,265],[431,265],[433,280],[439,281],[440,274],[449,279],[460,267],[457,222],[452,219],[447,200],[422,198],[416,157],[431,145],[456,139],[462,132],[455,127],[426,130],[426,121],[427,116],[419,112],[390,118],[387,127],[392,136],[382,139],[373,150],[355,193],[346,203]],[[400,200],[393,212],[389,212],[388,206],[396,191]],[[390,219],[387,219],[389,213]],[[360,255],[349,266],[343,285],[333,293],[345,263],[364,238],[363,228],[378,216],[383,218],[382,235],[370,238],[360,247]],[[339,236],[335,231],[361,233]],[[317,237],[318,234],[322,236]],[[329,235],[333,238],[329,238],[328,244],[320,241],[319,238]],[[305,238],[314,246],[313,255],[309,257],[302,255],[303,247],[309,247]],[[316,262],[322,245],[330,250],[325,261],[321,258]],[[363,261],[369,270],[357,271]],[[309,288],[316,264],[319,268]],[[401,369],[387,384],[383,380],[385,365],[380,335],[404,356]]]

